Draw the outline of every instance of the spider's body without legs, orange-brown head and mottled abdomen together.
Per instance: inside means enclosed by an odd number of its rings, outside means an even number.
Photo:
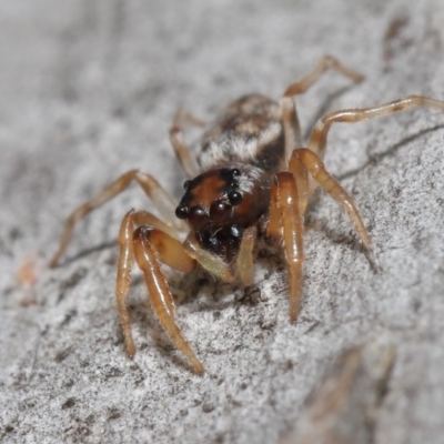
[[[175,214],[202,248],[230,262],[244,230],[265,230],[273,175],[285,163],[279,103],[259,94],[233,102],[202,138],[204,171],[184,183]]]

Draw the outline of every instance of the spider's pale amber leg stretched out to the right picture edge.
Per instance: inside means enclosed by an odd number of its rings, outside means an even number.
[[[421,95],[408,95],[404,99],[380,104],[371,108],[356,108],[342,111],[334,111],[324,115],[314,127],[310,138],[309,148],[321,159],[324,158],[326,138],[330,128],[335,122],[355,123],[363,120],[390,115],[398,111],[408,110],[416,107],[437,108],[444,111],[444,102],[434,99],[427,99]]]

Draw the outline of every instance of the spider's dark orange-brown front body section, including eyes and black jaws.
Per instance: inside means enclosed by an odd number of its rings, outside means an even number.
[[[270,179],[255,167],[225,165],[184,183],[175,210],[186,220],[202,246],[231,261],[244,229],[258,223],[270,204]]]

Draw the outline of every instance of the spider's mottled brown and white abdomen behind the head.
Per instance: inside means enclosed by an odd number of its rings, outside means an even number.
[[[224,163],[246,163],[272,174],[283,162],[280,105],[260,94],[232,102],[202,138],[199,163],[203,171]]]

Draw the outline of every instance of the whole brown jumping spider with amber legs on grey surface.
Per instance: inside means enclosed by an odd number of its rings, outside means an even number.
[[[290,84],[281,100],[249,94],[229,104],[219,119],[206,125],[198,159],[185,144],[183,130],[203,122],[178,113],[170,140],[190,178],[179,204],[151,174],[131,170],[68,218],[50,266],[59,264],[75,223],[131,182],[142,188],[164,219],[131,210],[120,225],[115,295],[129,356],[135,353],[127,305],[134,259],[162,327],[193,370],[203,373],[202,363],[175,321],[174,299],[160,263],[184,273],[201,266],[223,282],[238,281],[249,286],[254,245],[259,240],[274,244],[282,248],[287,264],[290,319],[295,321],[302,294],[304,215],[317,186],[342,205],[364,249],[371,250],[353,199],[322,162],[329,130],[335,122],[360,122],[415,107],[444,110],[444,102],[408,95],[376,107],[331,112],[315,124],[306,147],[300,148],[303,143],[294,97],[305,92],[329,69],[356,83],[363,79],[339,60],[324,57],[306,77]]]

